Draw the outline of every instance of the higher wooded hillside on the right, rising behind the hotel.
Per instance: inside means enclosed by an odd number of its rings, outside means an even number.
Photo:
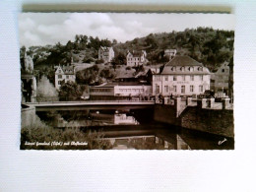
[[[177,55],[189,55],[203,63],[211,71],[216,71],[233,56],[233,31],[216,31],[211,28],[197,28],[184,32],[151,33],[125,43],[114,45],[115,52],[146,50],[151,64],[166,62],[164,49],[177,49]]]

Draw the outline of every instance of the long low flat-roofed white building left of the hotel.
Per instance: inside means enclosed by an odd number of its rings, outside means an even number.
[[[94,100],[142,99],[152,95],[152,86],[140,82],[105,83],[90,88]]]

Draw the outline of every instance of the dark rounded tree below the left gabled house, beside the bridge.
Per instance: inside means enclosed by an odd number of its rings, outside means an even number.
[[[62,84],[59,91],[60,100],[76,100],[82,96],[79,86],[74,82]]]

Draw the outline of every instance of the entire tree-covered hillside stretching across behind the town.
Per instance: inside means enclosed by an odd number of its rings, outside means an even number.
[[[233,55],[234,32],[216,31],[211,28],[197,28],[184,32],[151,33],[145,37],[135,38],[124,43],[117,40],[99,39],[98,37],[77,34],[75,40],[66,44],[31,46],[27,54],[32,56],[34,69],[44,73],[58,64],[100,63],[97,50],[100,46],[113,46],[115,58],[113,64],[125,64],[127,51],[146,50],[149,64],[168,61],[163,57],[164,49],[177,49],[177,55],[189,55],[203,63],[212,72],[224,62],[229,62]],[[21,58],[25,47],[21,48]]]

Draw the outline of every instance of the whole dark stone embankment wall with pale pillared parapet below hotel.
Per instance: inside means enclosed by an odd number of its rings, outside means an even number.
[[[166,103],[166,102],[165,102]],[[234,136],[233,110],[229,109],[229,100],[215,103],[213,98],[191,98],[184,101],[175,98],[173,104],[156,104],[154,120],[225,137]]]

